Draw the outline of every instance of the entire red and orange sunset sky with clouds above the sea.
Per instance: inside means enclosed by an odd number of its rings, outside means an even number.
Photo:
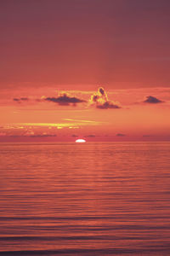
[[[168,0],[0,2],[0,142],[170,140]]]

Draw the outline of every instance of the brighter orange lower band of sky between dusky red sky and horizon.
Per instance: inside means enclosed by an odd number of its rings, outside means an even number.
[[[18,97],[2,97],[1,141],[56,142],[75,141],[77,137],[87,141],[169,140],[169,89],[106,93],[99,88],[103,95],[99,90],[63,92],[47,88],[40,95],[34,90]]]

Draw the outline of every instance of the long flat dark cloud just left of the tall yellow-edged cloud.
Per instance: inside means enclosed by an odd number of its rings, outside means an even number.
[[[70,104],[76,106],[77,103],[86,102],[82,99],[79,99],[75,96],[69,96],[67,93],[61,93],[58,97],[47,97],[44,99],[47,102],[54,102],[60,106],[68,106]]]

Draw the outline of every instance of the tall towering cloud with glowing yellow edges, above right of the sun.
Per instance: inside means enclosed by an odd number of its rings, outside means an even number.
[[[107,93],[103,87],[99,87],[97,93],[94,93],[94,95],[91,96],[89,103],[100,109],[121,108],[117,102],[109,101]]]

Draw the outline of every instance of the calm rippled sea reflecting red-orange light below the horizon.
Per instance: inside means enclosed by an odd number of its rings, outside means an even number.
[[[170,255],[170,143],[1,143],[2,255]]]

